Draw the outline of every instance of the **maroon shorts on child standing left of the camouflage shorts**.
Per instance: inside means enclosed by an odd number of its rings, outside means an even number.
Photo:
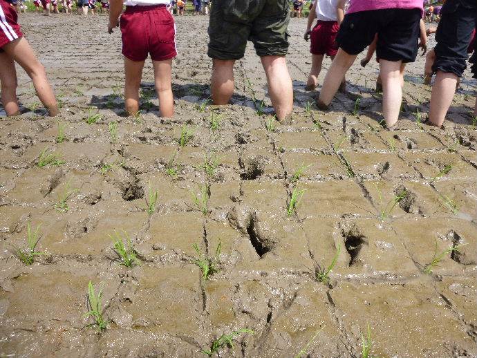
[[[176,26],[165,5],[127,6],[120,19],[122,55],[131,61],[176,57]]]

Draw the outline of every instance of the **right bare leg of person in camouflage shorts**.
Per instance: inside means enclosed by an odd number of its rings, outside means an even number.
[[[293,110],[293,86],[285,56],[263,56],[261,62],[267,75],[268,94],[278,120]]]

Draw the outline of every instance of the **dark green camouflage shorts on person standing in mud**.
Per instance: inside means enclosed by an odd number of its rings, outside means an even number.
[[[215,59],[241,59],[247,40],[259,56],[288,52],[288,0],[214,0],[209,20],[209,51]]]

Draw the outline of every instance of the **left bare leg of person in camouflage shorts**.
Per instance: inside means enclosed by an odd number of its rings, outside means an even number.
[[[234,63],[234,59],[212,61],[210,91],[214,104],[227,104],[234,94]]]

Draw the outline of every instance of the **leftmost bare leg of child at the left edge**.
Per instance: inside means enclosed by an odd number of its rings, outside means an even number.
[[[12,57],[0,53],[1,103],[7,115],[19,115],[17,100],[17,71]]]

